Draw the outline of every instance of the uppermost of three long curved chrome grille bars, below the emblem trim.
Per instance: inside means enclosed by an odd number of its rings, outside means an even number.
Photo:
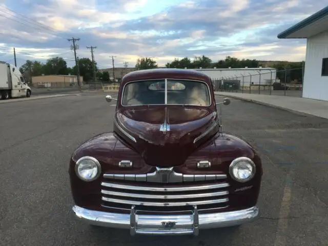
[[[189,186],[189,187],[144,187],[144,186],[128,186],[119,185],[118,183],[108,183],[102,182],[101,186],[116,188],[116,189],[126,189],[132,191],[154,191],[154,192],[183,192],[183,191],[201,191],[210,189],[219,189],[229,187],[229,183],[216,183],[214,185],[204,185],[204,186]]]

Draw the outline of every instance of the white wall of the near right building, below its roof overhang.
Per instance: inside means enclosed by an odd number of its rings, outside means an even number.
[[[322,58],[328,58],[328,30],[308,38],[303,97],[328,100],[328,76],[321,76]]]

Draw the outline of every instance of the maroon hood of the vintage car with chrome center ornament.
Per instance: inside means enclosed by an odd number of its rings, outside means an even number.
[[[114,131],[148,165],[156,167],[183,164],[199,145],[215,135],[219,127],[216,111],[188,107],[126,109],[118,111],[114,121]],[[166,132],[161,130],[165,125]],[[205,136],[195,141],[202,134]]]

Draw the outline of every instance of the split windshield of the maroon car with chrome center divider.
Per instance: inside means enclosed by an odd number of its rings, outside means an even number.
[[[211,105],[209,88],[201,81],[167,79],[167,90],[165,83],[165,79],[128,83],[123,91],[122,106]]]

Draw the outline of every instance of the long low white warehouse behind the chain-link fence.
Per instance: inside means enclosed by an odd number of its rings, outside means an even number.
[[[240,86],[270,85],[275,82],[275,68],[211,68],[193,69],[200,71],[213,80],[239,80]]]

